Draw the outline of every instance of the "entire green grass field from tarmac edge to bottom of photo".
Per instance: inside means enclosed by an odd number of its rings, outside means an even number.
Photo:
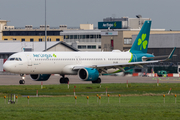
[[[76,86],[77,104],[73,96]],[[106,88],[110,94],[109,103]],[[168,95],[169,89],[171,94]],[[38,89],[40,96],[34,97]],[[0,86],[0,119],[180,119],[180,84],[76,84]],[[16,104],[3,96],[18,94]],[[96,94],[101,95],[101,103]],[[121,94],[119,103],[118,94]],[[163,94],[166,94],[165,103]],[[176,104],[174,94],[177,94]],[[29,104],[27,95],[30,95]],[[89,96],[87,104],[86,96]],[[32,96],[32,97],[31,97]]]

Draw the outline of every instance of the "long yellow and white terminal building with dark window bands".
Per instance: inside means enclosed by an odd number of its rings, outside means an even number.
[[[45,26],[25,27],[7,26],[6,20],[0,20],[0,40],[20,42],[44,42]],[[93,24],[80,24],[79,28],[67,28],[66,25],[50,27],[47,25],[49,42],[64,41],[81,51],[101,51],[101,31],[94,29]],[[44,43],[42,43],[44,44]]]

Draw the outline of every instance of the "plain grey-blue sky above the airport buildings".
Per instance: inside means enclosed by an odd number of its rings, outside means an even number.
[[[180,0],[46,0],[50,27],[94,24],[106,17],[152,19],[154,29],[180,30]],[[9,26],[39,27],[45,24],[45,0],[0,0],[0,20]]]

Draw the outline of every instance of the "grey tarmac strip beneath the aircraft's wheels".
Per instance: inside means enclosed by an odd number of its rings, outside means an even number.
[[[43,81],[44,85],[60,84],[59,75],[51,75],[49,80]],[[69,84],[92,84],[91,81],[82,81],[76,75],[68,75]],[[123,76],[100,76],[101,83],[180,83],[178,77],[123,77]],[[19,85],[19,75],[0,75],[0,85]],[[41,81],[33,81],[29,75],[26,75],[25,85],[40,85]]]

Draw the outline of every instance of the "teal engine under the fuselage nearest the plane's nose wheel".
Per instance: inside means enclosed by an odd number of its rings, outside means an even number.
[[[34,81],[47,81],[51,74],[30,74],[30,77]]]

